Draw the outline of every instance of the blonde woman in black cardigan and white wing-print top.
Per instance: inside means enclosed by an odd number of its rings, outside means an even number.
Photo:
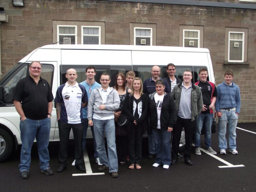
[[[132,81],[131,93],[124,101],[123,113],[129,119],[129,169],[141,169],[142,136],[146,131],[148,96],[142,93],[141,78]]]

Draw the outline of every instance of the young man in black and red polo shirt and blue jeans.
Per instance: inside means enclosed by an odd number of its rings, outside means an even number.
[[[205,147],[206,151],[212,154],[217,154],[211,148],[211,125],[213,121],[213,107],[215,105],[215,101],[217,98],[217,90],[215,84],[207,81],[208,71],[206,68],[199,69],[198,74],[200,80],[195,83],[195,85],[199,86],[202,91],[203,96],[203,109],[201,114],[198,115],[196,119],[196,129],[194,135],[194,142],[195,142],[195,154],[201,155],[200,151],[200,136],[203,125],[205,125]]]

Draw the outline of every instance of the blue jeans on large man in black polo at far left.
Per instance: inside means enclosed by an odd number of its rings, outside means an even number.
[[[22,142],[19,171],[29,171],[31,147],[35,138],[37,142],[40,169],[48,169],[50,167],[50,158],[47,147],[49,144],[51,119],[48,117],[42,120],[32,120],[27,118],[24,121],[20,121],[19,125]]]

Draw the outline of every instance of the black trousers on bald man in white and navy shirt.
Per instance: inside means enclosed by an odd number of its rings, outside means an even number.
[[[70,130],[73,130],[74,142],[75,142],[75,159],[76,164],[79,165],[84,162],[83,160],[83,126],[79,124],[69,124],[62,121],[58,122],[59,135],[60,135],[60,150],[59,150],[59,164],[61,166],[67,166],[67,147],[69,141]]]

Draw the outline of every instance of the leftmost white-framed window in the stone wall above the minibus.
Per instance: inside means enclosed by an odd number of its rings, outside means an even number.
[[[77,26],[57,26],[58,44],[77,44]]]

